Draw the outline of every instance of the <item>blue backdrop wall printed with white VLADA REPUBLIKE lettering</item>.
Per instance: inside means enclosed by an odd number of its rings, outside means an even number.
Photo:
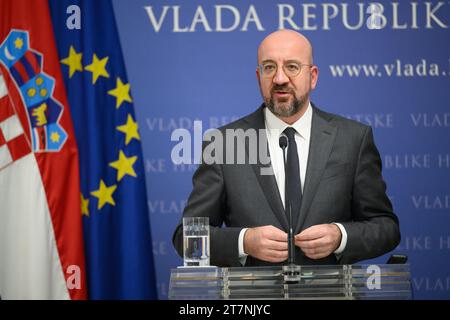
[[[171,133],[255,110],[257,46],[279,28],[298,28],[314,46],[312,100],[373,127],[401,223],[395,252],[409,256],[415,298],[450,298],[449,2],[116,0],[114,9],[142,135],[160,298],[182,263],[171,236],[195,170],[172,163]]]

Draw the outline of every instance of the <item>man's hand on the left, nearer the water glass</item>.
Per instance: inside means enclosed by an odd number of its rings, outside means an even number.
[[[250,228],[244,235],[244,251],[259,260],[285,261],[288,258],[287,233],[274,226]]]

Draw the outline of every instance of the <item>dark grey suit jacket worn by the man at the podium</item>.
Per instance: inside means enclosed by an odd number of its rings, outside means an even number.
[[[263,109],[264,105],[219,130],[264,129]],[[183,215],[209,217],[212,265],[241,266],[238,237],[243,228],[273,225],[287,232],[275,177],[261,175],[261,167],[261,163],[201,164],[195,172]],[[313,225],[339,222],[348,238],[339,259],[331,254],[312,260],[295,247],[296,264],[352,264],[398,245],[398,219],[386,196],[381,159],[370,127],[313,106],[308,167],[297,220],[294,234]],[[221,227],[223,223],[226,227]],[[181,222],[173,244],[183,256]],[[246,266],[261,265],[273,264],[247,258]]]

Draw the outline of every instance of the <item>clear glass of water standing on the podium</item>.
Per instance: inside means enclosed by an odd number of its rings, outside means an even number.
[[[209,266],[209,218],[183,218],[185,267]]]

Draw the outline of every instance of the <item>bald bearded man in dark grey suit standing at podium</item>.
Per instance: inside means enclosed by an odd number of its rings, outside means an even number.
[[[318,68],[309,41],[291,30],[270,34],[258,48],[256,75],[264,104],[219,132],[226,140],[233,130],[263,130],[259,139],[268,146],[273,174],[262,174],[260,159],[199,166],[183,216],[209,217],[211,264],[285,263],[286,194],[296,264],[351,264],[394,249],[400,241],[398,219],[386,196],[372,130],[310,102]],[[280,134],[288,140],[285,163]],[[251,147],[245,143],[247,160]],[[181,256],[182,229],[180,223],[173,236]]]

